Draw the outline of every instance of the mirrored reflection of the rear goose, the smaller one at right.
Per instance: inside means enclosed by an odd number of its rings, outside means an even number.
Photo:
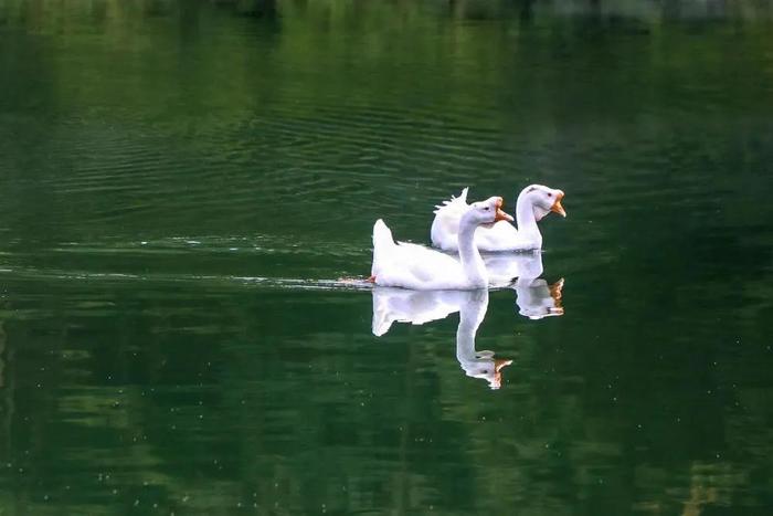
[[[549,285],[541,278],[542,253],[494,253],[483,256],[495,287],[516,291],[518,313],[530,319],[563,315],[563,278]]]

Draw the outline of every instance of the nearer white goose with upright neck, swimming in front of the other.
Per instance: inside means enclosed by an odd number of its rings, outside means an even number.
[[[457,223],[458,260],[422,245],[395,243],[383,220],[377,220],[370,281],[417,291],[486,288],[488,273],[475,246],[475,230],[481,224],[511,221],[501,206],[501,197],[491,197],[465,208]]]

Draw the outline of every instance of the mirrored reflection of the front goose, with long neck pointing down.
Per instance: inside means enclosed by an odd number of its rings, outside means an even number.
[[[476,351],[475,335],[488,309],[488,291],[406,291],[373,288],[373,335],[389,331],[392,323],[422,325],[459,313],[456,359],[468,377],[480,378],[491,389],[501,387],[501,370],[512,360],[494,358],[494,351]]]

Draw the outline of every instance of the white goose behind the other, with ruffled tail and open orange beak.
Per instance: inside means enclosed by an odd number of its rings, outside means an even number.
[[[437,206],[432,221],[432,244],[443,251],[458,250],[459,221],[467,209],[467,188],[459,197],[452,197]],[[521,190],[516,204],[518,229],[508,222],[483,228],[475,234],[480,251],[527,251],[542,249],[542,234],[537,222],[548,213],[566,217],[561,206],[563,191],[542,185],[531,185]]]

